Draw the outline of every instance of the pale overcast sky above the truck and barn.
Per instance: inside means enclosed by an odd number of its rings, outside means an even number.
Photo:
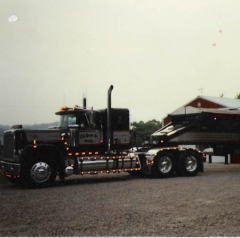
[[[240,93],[239,0],[0,0],[0,124],[63,106],[162,121],[199,95]]]

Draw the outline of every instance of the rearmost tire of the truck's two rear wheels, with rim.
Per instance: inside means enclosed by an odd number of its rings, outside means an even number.
[[[179,156],[178,171],[181,176],[194,176],[199,169],[199,155],[195,151],[185,151]]]

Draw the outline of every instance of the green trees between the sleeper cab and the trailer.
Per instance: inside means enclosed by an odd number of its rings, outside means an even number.
[[[162,123],[155,119],[147,122],[132,122],[131,129],[133,132],[133,146],[140,146],[145,138],[148,138],[153,132],[160,129],[161,127]]]

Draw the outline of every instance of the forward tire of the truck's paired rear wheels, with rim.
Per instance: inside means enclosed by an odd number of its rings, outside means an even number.
[[[174,156],[170,152],[158,154],[152,166],[152,176],[154,178],[167,178],[173,176],[175,171]]]

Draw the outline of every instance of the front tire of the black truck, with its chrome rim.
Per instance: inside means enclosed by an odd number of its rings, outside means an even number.
[[[48,187],[57,176],[57,166],[47,155],[39,154],[28,160],[22,171],[22,185],[24,187]]]

